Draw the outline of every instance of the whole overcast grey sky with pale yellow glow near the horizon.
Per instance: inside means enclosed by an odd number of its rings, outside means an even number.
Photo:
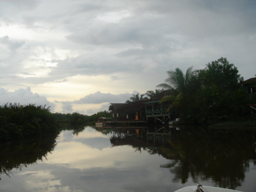
[[[255,0],[0,0],[0,105],[108,111],[167,71],[256,75]]]

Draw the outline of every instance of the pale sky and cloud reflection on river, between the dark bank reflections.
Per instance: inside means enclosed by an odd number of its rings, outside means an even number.
[[[184,187],[182,183],[172,182],[175,175],[169,169],[160,168],[169,162],[160,154],[137,151],[130,145],[111,147],[109,138],[110,135],[92,128],[86,128],[78,136],[73,136],[72,131],[63,131],[47,159],[23,167],[21,171],[13,169],[11,178],[1,176],[0,191],[172,192]],[[245,177],[250,177],[243,183],[247,192],[256,187],[255,167],[250,162],[249,172],[245,172]],[[186,186],[194,184],[188,178]],[[212,186],[212,180],[200,181],[200,184]]]

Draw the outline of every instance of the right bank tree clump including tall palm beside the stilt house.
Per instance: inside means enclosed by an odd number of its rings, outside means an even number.
[[[169,112],[178,110],[180,118],[190,123],[217,123],[244,120],[247,104],[256,104],[256,95],[248,97],[243,77],[227,58],[208,63],[204,69],[186,73],[176,68],[167,72],[165,83],[157,85],[171,90],[160,102],[169,102]]]

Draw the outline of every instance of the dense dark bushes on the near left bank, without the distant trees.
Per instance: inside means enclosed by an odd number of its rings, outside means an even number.
[[[55,118],[45,106],[0,106],[0,140],[41,137],[58,133]]]

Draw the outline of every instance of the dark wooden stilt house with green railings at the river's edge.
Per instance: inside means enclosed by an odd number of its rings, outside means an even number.
[[[177,118],[177,111],[167,112],[168,102],[159,103],[164,96],[170,95],[170,90],[164,90],[151,99],[137,100],[130,103],[111,103],[110,113],[113,113],[115,125],[159,125],[168,118]]]

